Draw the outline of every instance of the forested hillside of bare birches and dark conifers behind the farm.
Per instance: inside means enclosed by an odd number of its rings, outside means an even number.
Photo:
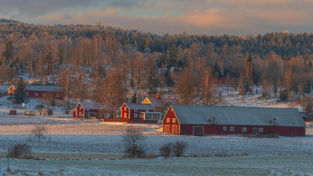
[[[174,87],[183,104],[214,105],[220,101],[217,77],[239,89],[241,98],[261,85],[265,100],[281,91],[285,101],[299,90],[303,100],[313,82],[313,34],[288,31],[160,36],[100,22],[39,25],[1,18],[0,57],[0,84],[23,76],[28,84],[60,85],[68,106],[92,100],[116,109],[163,87]]]

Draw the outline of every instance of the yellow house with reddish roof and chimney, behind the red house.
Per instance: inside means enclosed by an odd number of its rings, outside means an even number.
[[[162,119],[165,116],[167,109],[171,105],[180,105],[177,98],[162,98],[161,95],[157,95],[156,98],[146,97],[142,104],[151,104],[156,112],[162,113]]]

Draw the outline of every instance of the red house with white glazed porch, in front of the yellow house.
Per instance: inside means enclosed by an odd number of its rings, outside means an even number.
[[[155,112],[151,104],[124,103],[121,108],[121,118],[132,120],[161,120],[162,113]]]

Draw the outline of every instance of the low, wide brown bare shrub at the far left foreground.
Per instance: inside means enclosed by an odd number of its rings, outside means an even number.
[[[28,159],[31,157],[31,147],[27,144],[15,144],[9,156],[12,158]]]

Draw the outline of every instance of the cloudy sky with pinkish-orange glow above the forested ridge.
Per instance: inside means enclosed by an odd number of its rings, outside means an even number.
[[[0,17],[155,34],[313,32],[313,0],[0,0]]]

